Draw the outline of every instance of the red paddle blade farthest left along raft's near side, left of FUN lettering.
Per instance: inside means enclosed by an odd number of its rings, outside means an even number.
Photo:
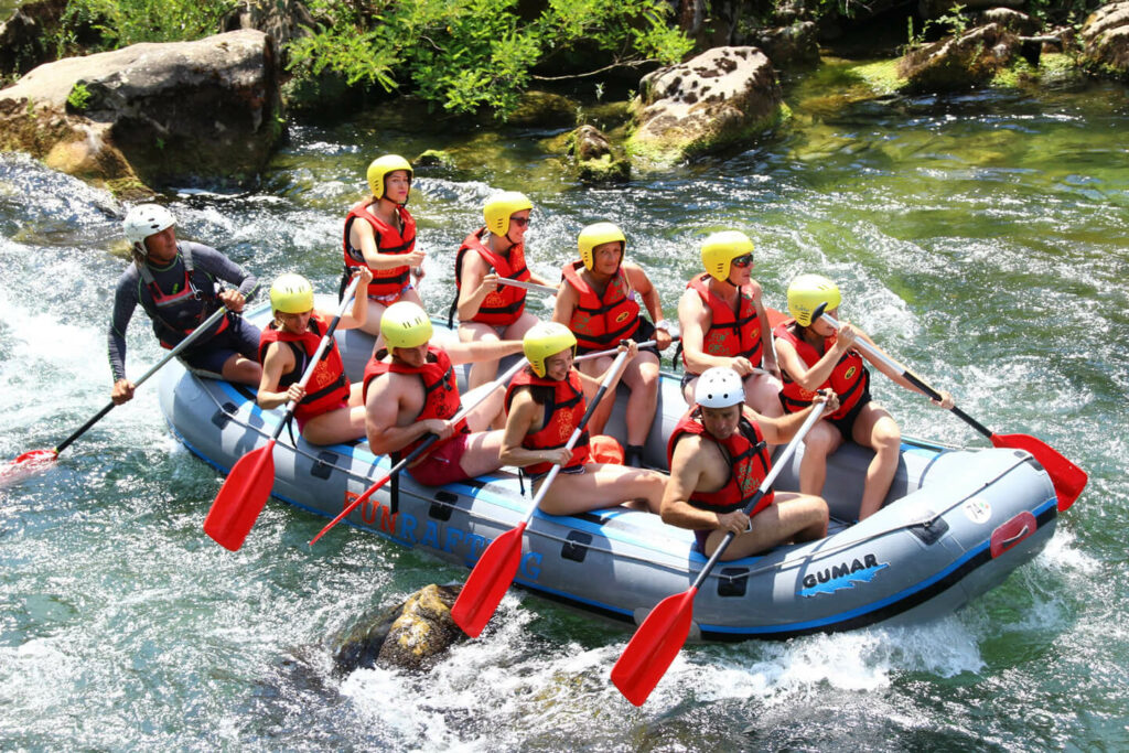
[[[216,494],[204,533],[233,552],[243,546],[274,485],[274,440],[254,449],[235,464]]]

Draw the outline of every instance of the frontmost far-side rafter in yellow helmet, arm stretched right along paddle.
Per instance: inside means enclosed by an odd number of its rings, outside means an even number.
[[[866,485],[858,510],[863,520],[882,509],[898,472],[902,434],[893,417],[870,397],[870,373],[866,360],[879,371],[912,392],[921,392],[904,376],[882,361],[851,348],[856,339],[866,341],[877,352],[885,353],[861,330],[843,323],[837,333],[822,318],[822,313],[837,316],[842,297],[839,287],[819,274],[800,274],[788,286],[788,312],[793,318],[776,329],[777,357],[784,375],[780,403],[785,411],[802,411],[816,391],[830,387],[839,395],[839,409],[828,413],[804,438],[804,458],[799,465],[799,490],[808,494],[823,491],[828,473],[828,456],[854,440],[874,450],[866,472]],[[864,358],[866,360],[864,360]],[[924,393],[922,393],[924,394]],[[953,396],[939,391],[935,405],[951,409]]]

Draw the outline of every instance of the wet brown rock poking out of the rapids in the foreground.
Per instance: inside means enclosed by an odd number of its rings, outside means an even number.
[[[332,641],[339,672],[359,667],[426,669],[465,633],[450,619],[462,586],[425,586],[392,608],[366,615]]]

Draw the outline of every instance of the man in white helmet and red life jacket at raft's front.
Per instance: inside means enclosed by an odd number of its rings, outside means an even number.
[[[826,402],[829,410],[839,404],[831,391],[813,402]],[[706,369],[694,385],[694,403],[667,445],[671,481],[663,494],[663,520],[691,528],[707,557],[733,532],[736,539],[723,560],[828,535],[828,504],[814,494],[770,491],[750,515],[743,511],[772,467],[767,444],[790,441],[812,410],[759,415],[745,405],[744,379],[736,370]]]

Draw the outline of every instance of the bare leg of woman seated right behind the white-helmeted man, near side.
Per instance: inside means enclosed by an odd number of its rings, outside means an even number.
[[[550,515],[575,515],[642,499],[651,513],[658,513],[664,489],[665,473],[589,463],[584,473],[558,474],[541,501],[541,509]]]

